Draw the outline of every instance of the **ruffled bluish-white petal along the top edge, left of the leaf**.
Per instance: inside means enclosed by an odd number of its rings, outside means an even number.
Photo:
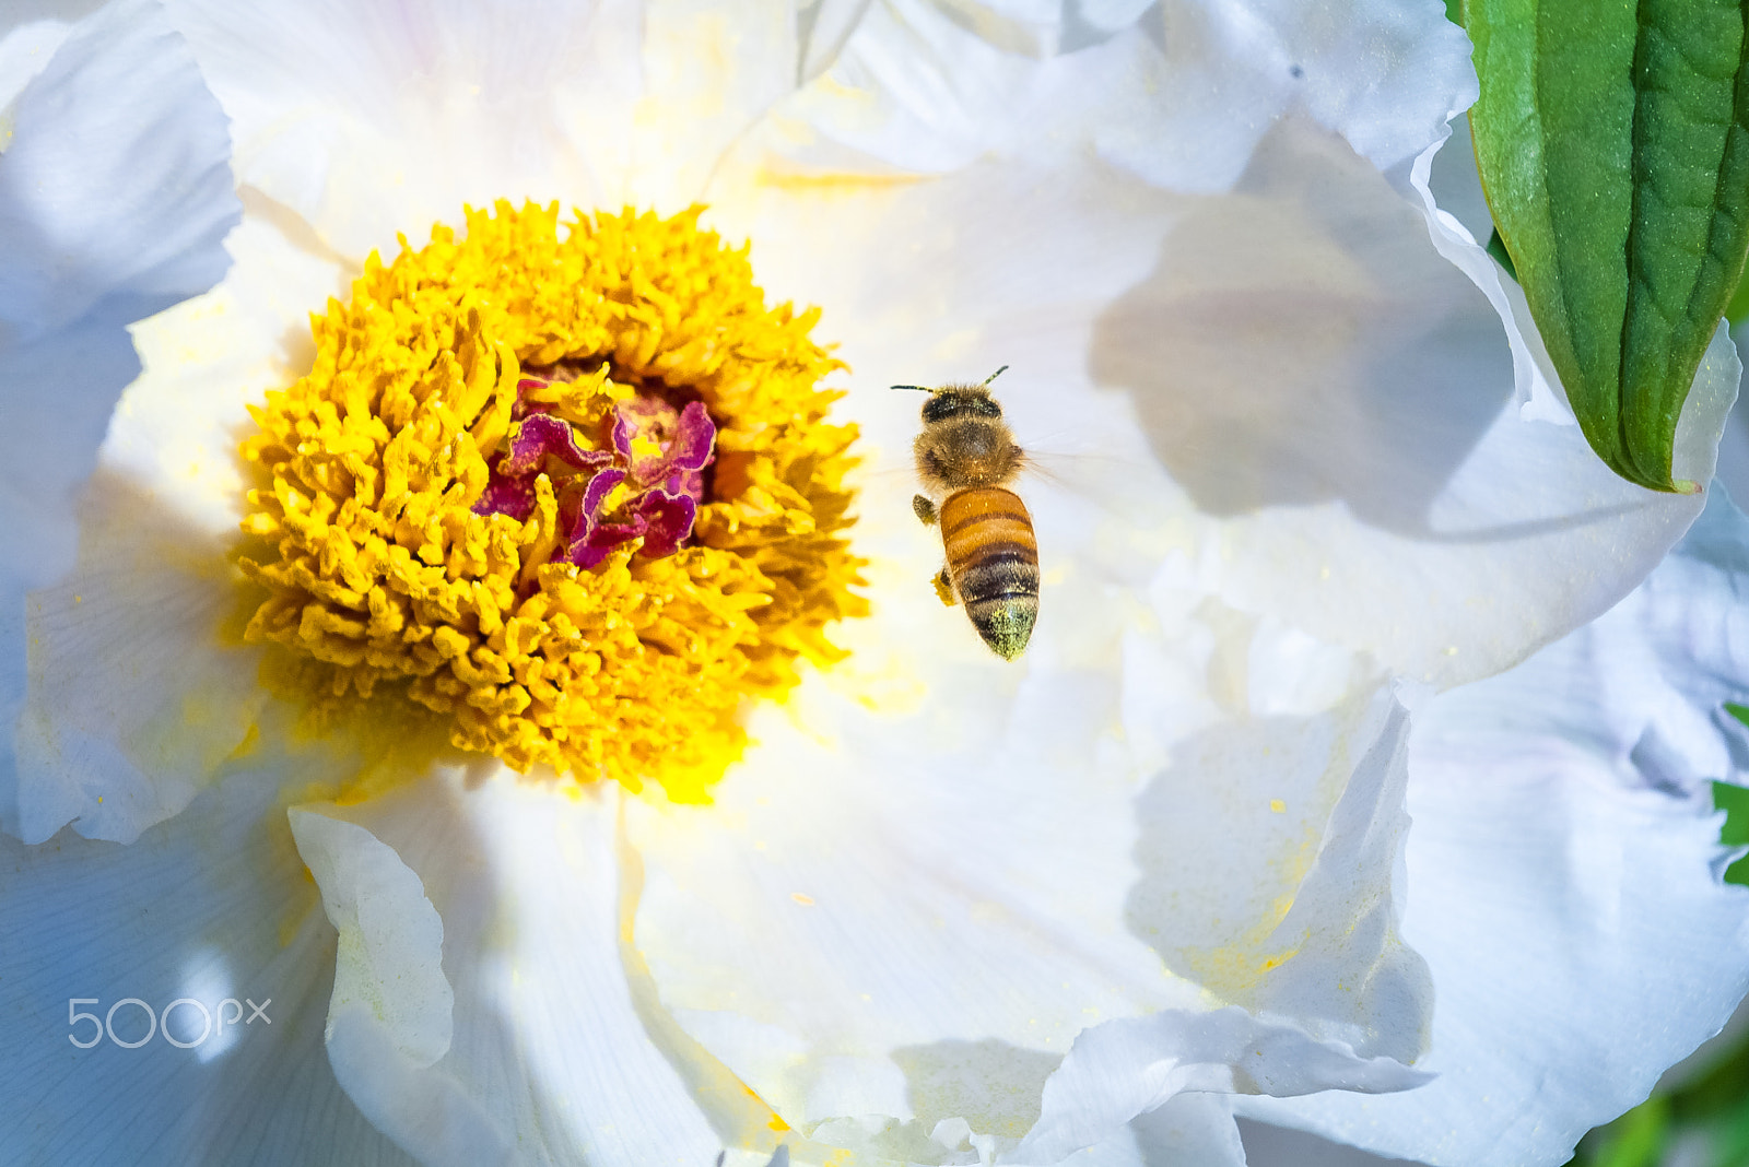
[[[1069,59],[1035,68],[1032,58],[1060,35],[1053,7],[890,0],[871,9],[833,70],[834,91],[785,110],[806,126],[792,133],[796,152],[815,164],[862,155],[913,173],[1016,147],[1079,162],[1058,126],[1065,114],[1098,110],[1102,159],[1158,185],[1216,192],[1244,173],[1284,114],[1310,115],[1389,168],[1474,100],[1469,44],[1431,0],[1366,3],[1340,17],[1298,3],[1163,3],[1142,17],[1149,37],[1121,37],[1165,47],[1140,65],[1146,103],[1112,84],[1125,70]],[[1086,12],[1107,31],[1137,16],[1126,5]]]

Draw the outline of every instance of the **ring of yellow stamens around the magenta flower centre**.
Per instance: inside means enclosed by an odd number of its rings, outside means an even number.
[[[313,316],[315,367],[254,409],[262,486],[243,571],[268,596],[247,638],[296,650],[315,711],[388,692],[446,715],[463,749],[526,772],[663,784],[698,800],[743,744],[750,697],[796,660],[833,660],[833,620],[862,615],[845,531],[854,426],[826,425],[840,369],[817,311],[764,306],[747,248],[698,210],[469,211],[467,234],[383,266]],[[563,561],[563,515],[537,480],[525,521],[470,507],[509,447],[518,383],[584,447],[616,400],[701,400],[717,461],[677,554]],[[283,673],[283,671],[282,671]]]

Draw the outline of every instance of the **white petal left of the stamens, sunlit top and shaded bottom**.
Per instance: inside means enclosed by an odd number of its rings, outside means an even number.
[[[49,526],[54,538],[79,536],[79,559],[24,613],[30,695],[19,676],[17,767],[0,770],[0,828],[30,842],[68,821],[89,839],[129,842],[212,781],[268,702],[255,650],[231,627],[238,596],[224,552],[245,489],[236,440],[247,404],[290,383],[297,362],[308,367],[310,307],[345,290],[336,260],[287,236],[285,220],[297,225],[252,199],[226,281],[135,325],[145,370],[108,421],[80,526],[42,512],[61,524]],[[112,360],[136,369],[126,334],[112,335]],[[79,358],[100,367],[101,349]],[[103,425],[91,419],[96,433]],[[26,561],[7,550],[0,563]]]

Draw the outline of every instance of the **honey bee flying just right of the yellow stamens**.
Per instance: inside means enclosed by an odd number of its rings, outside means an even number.
[[[1013,660],[1027,650],[1039,618],[1039,540],[1027,503],[1007,489],[1027,454],[990,397],[990,383],[1006,369],[983,384],[892,388],[929,393],[923,432],[911,447],[929,494],[911,498],[911,510],[925,526],[941,526],[946,564],[936,594],[946,604],[964,603],[983,643]]]

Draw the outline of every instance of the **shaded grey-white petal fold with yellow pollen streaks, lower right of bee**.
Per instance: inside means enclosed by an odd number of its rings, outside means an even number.
[[[1132,931],[1226,1001],[1413,1062],[1432,985],[1396,933],[1406,734],[1375,688],[1189,737],[1135,804]]]

